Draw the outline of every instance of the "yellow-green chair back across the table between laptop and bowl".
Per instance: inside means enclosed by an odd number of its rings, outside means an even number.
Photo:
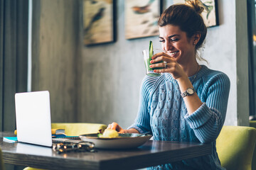
[[[51,125],[53,129],[65,129],[65,134],[68,136],[97,133],[107,128],[107,125],[98,123],[52,123]]]

